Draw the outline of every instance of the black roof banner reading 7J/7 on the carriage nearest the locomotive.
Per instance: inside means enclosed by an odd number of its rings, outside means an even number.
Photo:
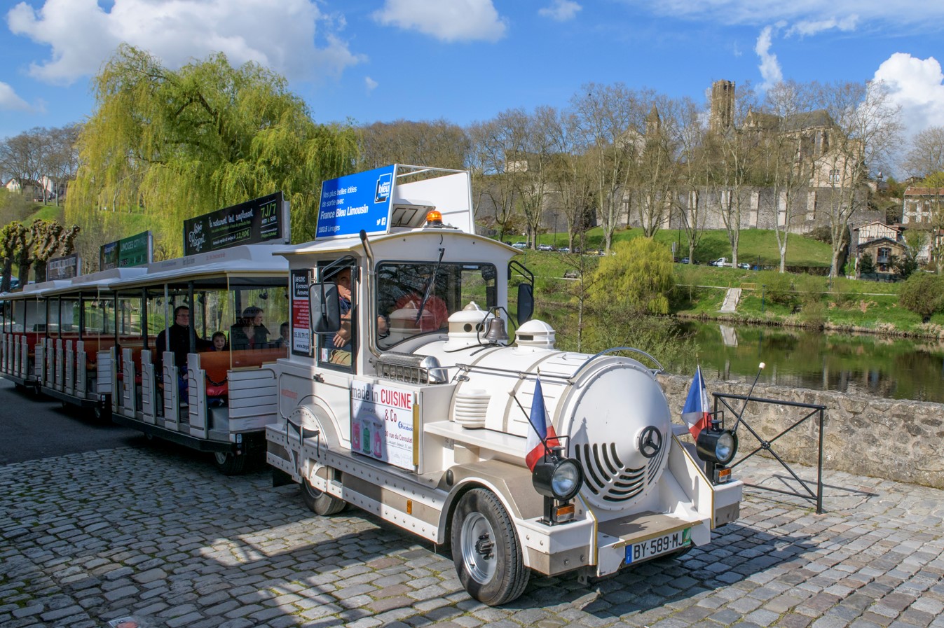
[[[280,191],[183,222],[184,256],[241,244],[283,244],[288,241],[288,204]]]

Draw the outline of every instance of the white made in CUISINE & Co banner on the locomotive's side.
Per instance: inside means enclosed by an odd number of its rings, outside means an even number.
[[[413,390],[351,382],[351,451],[413,470]]]

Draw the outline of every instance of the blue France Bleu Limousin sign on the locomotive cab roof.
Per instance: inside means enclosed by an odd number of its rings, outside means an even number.
[[[394,166],[325,181],[315,238],[386,233],[393,188]]]

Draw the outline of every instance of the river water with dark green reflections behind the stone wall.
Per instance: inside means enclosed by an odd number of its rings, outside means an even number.
[[[766,362],[760,381],[768,384],[944,403],[944,344],[936,340],[716,322],[683,328],[699,344],[705,377],[751,382]]]

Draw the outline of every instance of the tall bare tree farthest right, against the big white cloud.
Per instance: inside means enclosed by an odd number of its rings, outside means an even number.
[[[901,140],[901,107],[891,101],[885,85],[875,81],[822,86],[818,95],[837,127],[830,151],[817,164],[820,173],[829,171],[833,192],[828,211],[834,277],[850,219],[868,203],[864,189],[869,171],[887,166]]]

